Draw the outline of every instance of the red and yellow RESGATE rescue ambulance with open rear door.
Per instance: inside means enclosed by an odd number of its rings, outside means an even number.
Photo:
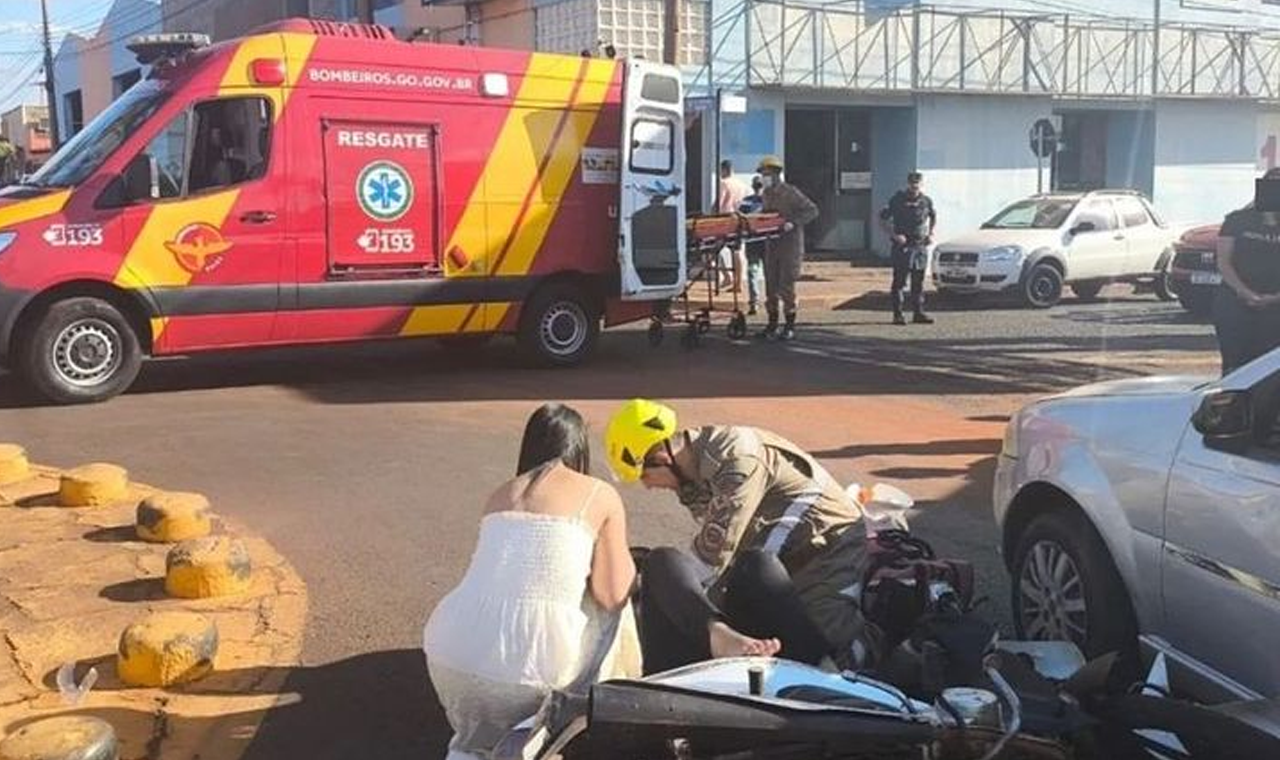
[[[678,72],[288,20],[152,73],[0,191],[0,365],[55,402],[142,358],[515,334],[572,365],[686,284]]]

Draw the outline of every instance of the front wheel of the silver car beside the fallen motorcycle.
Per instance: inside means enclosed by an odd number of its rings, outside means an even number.
[[[1074,512],[1033,519],[1014,549],[1014,627],[1033,641],[1071,641],[1085,656],[1137,656],[1124,581],[1093,526]]]

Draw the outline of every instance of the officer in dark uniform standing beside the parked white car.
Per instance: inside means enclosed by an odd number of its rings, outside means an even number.
[[[933,324],[933,317],[924,313],[924,270],[929,265],[929,246],[933,243],[938,215],[933,201],[924,194],[923,184],[924,175],[911,171],[906,175],[906,189],[893,193],[888,205],[881,210],[881,228],[893,241],[893,284],[890,296],[893,299],[895,325],[906,324],[906,317],[902,316],[902,288],[908,280],[911,284],[911,321],[918,325]]]

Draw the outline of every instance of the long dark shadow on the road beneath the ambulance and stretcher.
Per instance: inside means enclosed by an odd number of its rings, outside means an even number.
[[[831,356],[801,354],[796,344],[731,344],[713,330],[700,348],[677,340],[654,349],[641,331],[602,342],[590,371],[520,366],[509,340],[457,354],[415,343],[282,349],[201,356],[148,363],[128,398],[174,392],[283,386],[329,404],[541,400],[545,398],[755,398],[777,395],[883,395],[1041,393],[1124,376],[1083,362],[960,351],[938,340],[850,338],[818,325],[805,340],[836,347]],[[948,345],[943,348],[943,345]],[[860,353],[836,356],[845,348]],[[860,365],[850,371],[850,361]],[[973,370],[980,366],[982,375]],[[708,381],[707,370],[732,381]],[[762,371],[768,367],[768,371]],[[9,377],[0,379],[0,407],[20,403]],[[65,412],[59,412],[65,413]]]

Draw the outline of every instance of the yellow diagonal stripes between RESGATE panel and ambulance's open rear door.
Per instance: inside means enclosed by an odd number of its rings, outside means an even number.
[[[476,183],[467,207],[462,212],[453,234],[449,237],[444,251],[461,248],[479,266],[475,269],[456,270],[445,260],[445,276],[485,276],[490,273],[494,261],[502,253],[503,247],[508,247],[507,260],[516,258],[522,264],[508,266],[506,262],[500,267],[503,273],[512,267],[524,266],[520,274],[529,271],[532,255],[545,237],[554,206],[564,193],[564,187],[577,168],[581,145],[594,125],[599,113],[599,104],[604,100],[609,81],[613,77],[616,64],[608,60],[593,61],[588,67],[586,77],[579,88],[576,102],[594,102],[595,110],[590,113],[590,123],[585,123],[582,115],[572,114],[570,123],[564,125],[557,145],[552,145],[556,138],[556,128],[577,84],[579,74],[582,70],[582,59],[563,55],[547,55],[535,52],[530,56],[529,68],[520,84],[520,91],[511,105],[507,119],[498,139],[494,141],[493,151],[485,164],[484,171]],[[603,78],[603,84],[600,79]],[[594,100],[588,100],[594,99]],[[585,132],[582,131],[586,125]],[[572,136],[572,142],[568,136]],[[521,207],[529,191],[538,182],[538,169],[549,151],[568,150],[567,145],[576,145],[577,148],[571,155],[554,155],[544,171],[541,193],[535,189],[532,205],[521,218]],[[566,171],[566,165],[570,165]],[[554,174],[548,182],[547,175]],[[554,201],[547,197],[548,191],[554,191]],[[535,221],[535,228],[540,232],[526,234],[524,230]],[[516,229],[517,223],[520,229]],[[540,226],[539,226],[540,225]],[[532,248],[529,248],[532,246]],[[481,306],[481,313],[467,324],[467,331],[490,330],[497,328],[509,303],[488,303]],[[410,315],[401,335],[433,335],[440,333],[457,331],[461,320],[453,322],[439,312],[440,307],[419,307]],[[448,315],[452,316],[452,315]]]

